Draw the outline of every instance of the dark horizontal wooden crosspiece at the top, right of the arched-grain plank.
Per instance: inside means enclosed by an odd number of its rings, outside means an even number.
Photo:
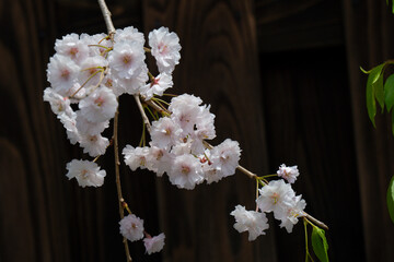
[[[256,0],[258,48],[299,50],[344,43],[340,1]]]

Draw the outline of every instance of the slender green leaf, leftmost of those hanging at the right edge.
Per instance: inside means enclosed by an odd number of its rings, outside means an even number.
[[[378,67],[373,68],[370,71],[370,74],[368,75],[368,80],[367,80],[367,93],[366,93],[367,109],[368,109],[368,116],[369,116],[373,127],[375,127],[374,117],[376,116],[376,102],[375,102],[376,86],[380,87],[381,82],[379,82],[379,81],[383,81],[382,70],[383,70],[384,66],[385,66],[385,63],[382,63],[382,64],[379,64]],[[380,80],[381,75],[382,75],[382,80]],[[382,82],[382,84],[383,84],[383,82]],[[381,99],[380,91],[378,93],[379,93],[378,97],[379,97],[379,99]],[[381,102],[381,100],[379,100],[379,102]]]

